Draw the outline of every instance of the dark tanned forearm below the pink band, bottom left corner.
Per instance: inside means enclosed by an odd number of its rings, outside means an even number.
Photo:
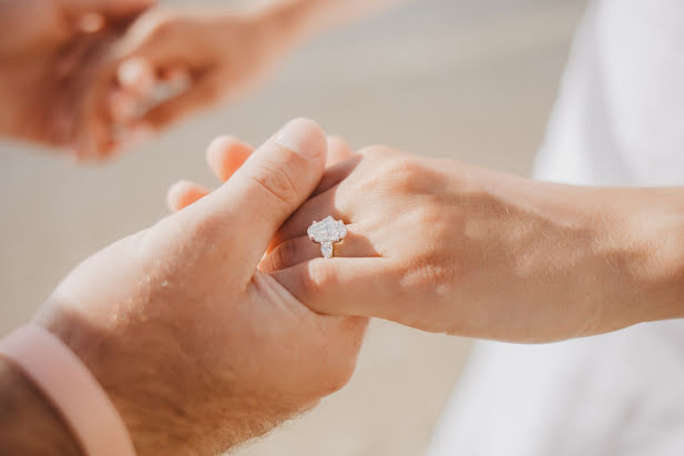
[[[80,456],[61,417],[9,362],[0,358],[0,454]]]

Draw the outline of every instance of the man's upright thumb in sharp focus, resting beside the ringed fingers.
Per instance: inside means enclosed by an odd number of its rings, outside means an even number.
[[[318,185],[326,154],[320,126],[308,119],[295,119],[207,196],[228,209],[229,226],[235,227],[229,233],[234,253],[256,267],[276,231]]]

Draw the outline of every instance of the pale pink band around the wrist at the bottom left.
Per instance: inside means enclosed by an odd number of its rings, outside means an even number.
[[[39,326],[0,341],[11,359],[60,412],[88,456],[135,456],[126,427],[106,393],[79,357]]]

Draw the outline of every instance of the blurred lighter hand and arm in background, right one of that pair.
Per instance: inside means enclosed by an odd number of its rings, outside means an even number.
[[[116,51],[121,63],[111,112],[124,131],[159,131],[244,95],[317,32],[398,1],[277,0],[243,9],[151,9]]]

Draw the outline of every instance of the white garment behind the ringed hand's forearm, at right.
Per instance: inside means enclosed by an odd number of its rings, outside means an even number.
[[[684,185],[684,0],[590,4],[535,174]],[[684,321],[477,344],[428,450],[455,455],[684,455]]]

